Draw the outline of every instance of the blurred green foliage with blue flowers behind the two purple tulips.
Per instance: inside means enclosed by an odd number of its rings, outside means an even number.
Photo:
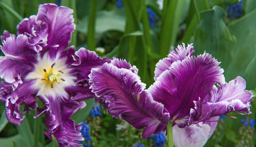
[[[45,2],[60,1],[1,0],[0,32],[8,30],[16,34],[17,24],[36,14],[38,5]],[[254,0],[166,0],[163,9],[156,0],[124,0],[122,3],[119,0],[62,0],[61,5],[74,10],[76,31],[70,46],[95,50],[102,57],[125,58],[137,66],[147,87],[153,83],[154,67],[159,59],[184,42],[193,43],[196,54],[206,51],[222,62],[226,81],[242,76],[247,81],[247,89],[256,94]],[[87,120],[91,138],[87,145],[135,146],[140,141],[141,145],[156,146],[156,140],[143,140],[141,130],[114,119],[106,111],[105,114],[100,111],[102,116],[92,117],[89,113],[94,100],[86,103],[86,108],[71,118],[76,123]],[[256,102],[252,101],[249,116],[223,117],[205,146],[255,146],[255,107]],[[44,117],[33,119],[36,112],[26,114],[20,126],[6,121],[2,104],[0,114],[1,146],[56,146],[42,133],[46,130]]]

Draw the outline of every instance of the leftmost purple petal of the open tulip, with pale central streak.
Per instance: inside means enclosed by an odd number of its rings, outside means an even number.
[[[33,63],[37,62],[34,49],[22,34],[17,39],[10,37],[3,42],[1,50],[6,56],[0,57],[0,74],[6,82],[13,83],[14,89],[22,84],[22,79],[32,70]]]

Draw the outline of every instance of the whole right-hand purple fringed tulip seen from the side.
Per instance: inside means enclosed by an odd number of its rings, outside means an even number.
[[[254,95],[246,90],[242,77],[225,82],[220,62],[210,54],[195,57],[193,53],[192,44],[183,44],[160,60],[155,82],[147,90],[136,66],[113,58],[92,69],[90,89],[112,116],[136,129],[145,128],[143,138],[166,130],[172,121],[175,146],[203,146],[218,116],[236,111],[250,114]]]

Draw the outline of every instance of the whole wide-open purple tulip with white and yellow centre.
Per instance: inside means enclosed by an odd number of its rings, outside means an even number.
[[[39,5],[38,14],[24,18],[17,26],[17,37],[4,31],[1,36],[0,101],[7,120],[20,125],[23,114],[37,109],[34,118],[45,115],[45,124],[60,146],[79,146],[84,140],[81,124],[70,117],[84,108],[83,100],[95,97],[89,89],[89,73],[108,58],[100,58],[84,48],[68,47],[75,29],[73,10],[56,4]],[[68,49],[66,49],[68,47]],[[38,107],[38,101],[44,108]],[[24,112],[20,105],[25,105]]]

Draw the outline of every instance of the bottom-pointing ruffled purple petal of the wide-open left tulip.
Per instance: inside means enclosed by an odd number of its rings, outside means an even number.
[[[44,95],[41,95],[41,98]],[[61,97],[45,97],[49,100],[49,103],[44,103],[49,107],[48,111],[45,111],[45,123],[49,132],[44,132],[47,137],[51,139],[51,135],[54,135],[60,146],[80,146],[80,141],[84,138],[81,136],[80,124],[74,124],[74,121],[70,117],[76,113],[76,111],[84,108],[86,103],[84,101],[69,101],[66,103]]]

